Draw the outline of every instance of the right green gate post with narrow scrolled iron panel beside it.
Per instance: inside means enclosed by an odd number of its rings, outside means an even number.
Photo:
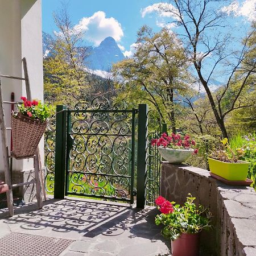
[[[137,164],[137,207],[155,205],[160,193],[161,157],[151,139],[159,138],[167,132],[159,112],[149,110],[146,104],[140,104],[138,110],[138,151]]]

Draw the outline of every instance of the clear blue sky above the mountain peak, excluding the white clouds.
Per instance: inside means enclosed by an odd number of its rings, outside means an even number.
[[[158,1],[152,0],[70,0],[69,14],[73,24],[79,23],[83,17],[90,17],[98,11],[103,11],[106,14],[106,19],[114,18],[123,31],[123,36],[118,41],[118,44],[125,47],[125,50],[130,49],[130,45],[136,41],[137,31],[143,24],[154,27],[156,30],[155,19],[151,16],[142,18],[141,9],[148,5],[152,5]],[[61,6],[60,0],[42,0],[43,6],[43,31],[52,33],[56,30],[52,19],[53,11],[57,11]],[[112,35],[112,33],[110,33]]]

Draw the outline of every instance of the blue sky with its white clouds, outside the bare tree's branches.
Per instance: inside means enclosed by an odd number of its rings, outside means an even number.
[[[42,0],[43,31],[52,34],[56,30],[52,13],[58,11],[63,0]],[[86,31],[86,40],[97,46],[107,36],[113,36],[119,48],[127,56],[131,54],[137,38],[137,31],[147,24],[159,31],[170,16],[154,13],[154,0],[69,0],[68,10],[71,21]],[[163,1],[164,2],[164,1]],[[231,1],[232,2],[232,1]],[[247,20],[255,19],[256,0],[235,0],[226,6],[226,13],[236,17],[234,22],[249,26]],[[172,28],[174,31],[176,28]],[[237,32],[238,34],[238,32]]]

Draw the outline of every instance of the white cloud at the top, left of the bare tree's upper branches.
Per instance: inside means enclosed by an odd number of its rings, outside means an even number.
[[[146,16],[146,14],[158,12],[160,17],[169,17],[173,19],[178,18],[178,10],[171,5],[171,3],[154,3],[154,5],[149,5],[141,10],[142,18]]]

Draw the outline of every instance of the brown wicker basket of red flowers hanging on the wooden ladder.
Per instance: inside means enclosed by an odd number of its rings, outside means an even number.
[[[40,101],[28,101],[21,97],[22,103],[17,105],[17,112],[11,117],[11,133],[13,136],[13,155],[16,159],[34,156],[36,148],[46,130],[47,118],[52,113],[48,104]]]

